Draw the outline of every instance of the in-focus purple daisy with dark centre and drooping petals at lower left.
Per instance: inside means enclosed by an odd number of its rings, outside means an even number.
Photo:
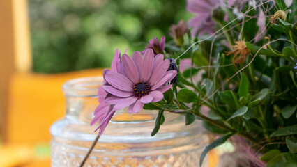
[[[121,57],[116,51],[112,70],[103,72],[105,84],[99,88],[100,104],[91,122],[100,122],[100,135],[115,111],[128,107],[129,113],[139,113],[144,104],[163,99],[163,93],[172,87],[165,84],[177,74],[176,70],[167,71],[170,61],[163,59],[162,54],[154,57],[153,49],[147,49],[144,56],[135,51],[132,58],[128,54]]]

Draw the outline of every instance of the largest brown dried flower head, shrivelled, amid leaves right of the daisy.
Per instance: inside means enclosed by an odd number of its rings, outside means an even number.
[[[240,40],[235,42],[236,45],[232,46],[234,51],[227,52],[227,55],[234,54],[233,63],[242,64],[245,63],[245,59],[250,54],[250,50],[245,45],[245,42]]]

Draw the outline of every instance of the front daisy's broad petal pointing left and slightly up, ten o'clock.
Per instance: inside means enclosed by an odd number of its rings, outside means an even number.
[[[105,80],[119,90],[124,90],[124,91],[133,90],[132,88],[133,84],[131,83],[131,81],[119,73],[108,71],[105,74]]]

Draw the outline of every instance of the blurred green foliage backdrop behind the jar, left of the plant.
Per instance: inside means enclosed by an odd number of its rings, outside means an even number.
[[[190,17],[178,0],[29,0],[33,72],[109,67],[116,48],[128,54]]]

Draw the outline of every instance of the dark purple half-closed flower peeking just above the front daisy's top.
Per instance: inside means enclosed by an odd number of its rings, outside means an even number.
[[[142,51],[142,54],[144,54],[147,49],[153,49],[154,56],[157,54],[164,54],[165,36],[162,36],[161,41],[156,37],[154,37],[153,40],[149,40],[148,45],[146,45],[146,49]]]

